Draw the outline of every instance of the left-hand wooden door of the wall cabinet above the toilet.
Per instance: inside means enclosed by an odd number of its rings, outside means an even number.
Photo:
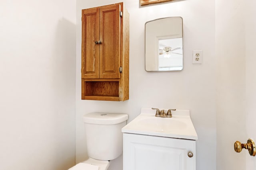
[[[100,9],[82,10],[82,78],[99,78]]]

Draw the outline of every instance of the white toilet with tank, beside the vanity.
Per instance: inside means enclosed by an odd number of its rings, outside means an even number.
[[[109,161],[123,152],[122,127],[127,114],[88,113],[84,115],[87,152],[89,159],[69,170],[107,170]]]

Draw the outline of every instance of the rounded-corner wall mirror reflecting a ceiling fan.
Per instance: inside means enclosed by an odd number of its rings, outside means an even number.
[[[145,70],[183,69],[183,20],[160,18],[145,23]]]

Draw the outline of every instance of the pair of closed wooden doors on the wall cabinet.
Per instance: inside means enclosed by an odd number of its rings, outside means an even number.
[[[121,6],[82,10],[82,78],[120,78]]]

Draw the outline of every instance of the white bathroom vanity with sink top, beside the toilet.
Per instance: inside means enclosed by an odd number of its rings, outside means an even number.
[[[122,133],[123,170],[196,170],[198,136],[189,110],[176,109],[167,118],[142,108]]]

